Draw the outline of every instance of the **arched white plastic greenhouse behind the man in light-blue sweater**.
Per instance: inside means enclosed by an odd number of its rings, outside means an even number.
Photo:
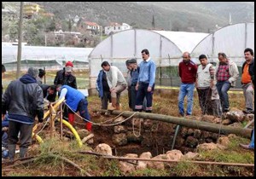
[[[191,51],[208,33],[195,32],[162,32],[142,29],[131,29],[118,32],[99,43],[89,55],[90,88],[102,69],[102,61],[126,72],[125,61],[136,58],[142,61],[141,51],[148,49],[150,57],[157,66],[177,66],[184,51]]]

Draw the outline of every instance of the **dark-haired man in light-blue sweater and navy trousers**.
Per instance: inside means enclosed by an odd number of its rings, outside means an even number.
[[[147,99],[146,113],[152,112],[152,101],[154,93],[154,80],[156,66],[154,61],[149,57],[148,49],[142,50],[143,61],[140,63],[140,72],[137,78],[137,97],[135,110],[143,111],[144,97]]]

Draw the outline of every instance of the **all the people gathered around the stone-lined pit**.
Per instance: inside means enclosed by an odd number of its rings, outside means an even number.
[[[125,62],[128,72],[125,79],[122,72],[108,61],[102,62],[102,70],[96,80],[96,89],[102,101],[102,109],[120,110],[120,95],[128,90],[129,107],[132,111],[152,112],[153,93],[156,66],[150,58],[148,49],[142,50],[143,61],[137,65],[136,59]],[[245,62],[242,65],[241,84],[245,96],[246,109],[244,113],[254,113],[254,58],[253,49],[245,49]],[[207,61],[206,55],[200,55],[200,65],[191,61],[189,52],[183,53],[183,61],[178,65],[181,85],[178,95],[178,111],[181,116],[191,115],[193,111],[194,89],[198,92],[202,114],[220,116],[230,111],[228,90],[236,85],[239,76],[236,63],[230,61],[224,53],[218,53],[219,63],[216,67]],[[3,73],[6,71],[2,65]],[[91,130],[90,113],[86,96],[77,90],[76,78],[72,74],[73,63],[67,61],[65,67],[56,72],[53,85],[42,84],[45,72],[30,67],[21,78],[10,82],[3,94],[2,85],[2,127],[9,127],[8,149],[9,159],[15,158],[15,148],[20,141],[20,158],[26,155],[27,148],[32,143],[32,127],[35,118],[38,123],[44,119],[44,101],[54,102],[57,92],[59,99],[65,98],[67,105],[64,119],[74,123],[74,113],[84,120],[85,129]],[[183,103],[187,95],[188,105],[186,112]],[[111,106],[108,105],[111,104]],[[6,128],[2,130],[2,138],[6,135]],[[19,136],[19,137],[18,137]],[[7,138],[4,138],[5,141]],[[7,143],[7,142],[6,142]],[[254,130],[252,142],[241,147],[254,148]]]

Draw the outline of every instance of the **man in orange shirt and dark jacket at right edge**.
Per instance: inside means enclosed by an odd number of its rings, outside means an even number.
[[[253,113],[253,84],[252,79],[254,78],[254,58],[253,49],[244,50],[245,62],[241,67],[241,88],[246,101],[246,109],[243,113]],[[251,76],[252,74],[252,76]]]

